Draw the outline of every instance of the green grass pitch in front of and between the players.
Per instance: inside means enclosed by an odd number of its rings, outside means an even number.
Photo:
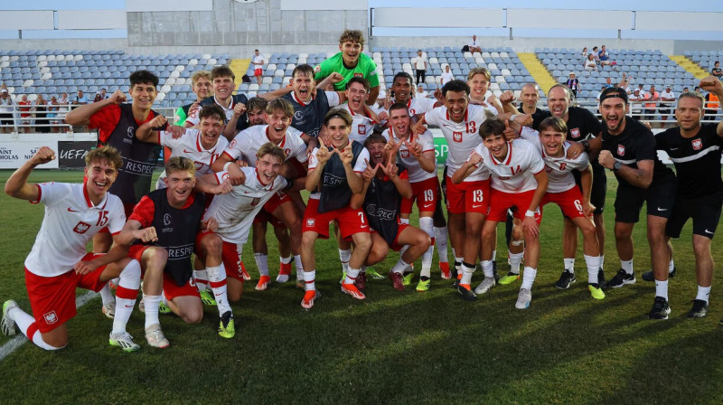
[[[0,172],[2,184],[9,174]],[[81,177],[80,172],[39,171],[32,180]],[[609,180],[608,278],[618,267],[612,236],[615,179]],[[42,206],[5,194],[0,206],[0,298],[13,297],[28,310],[23,260],[42,220]],[[0,402],[723,402],[723,328],[718,326],[723,288],[718,279],[709,316],[685,317],[696,293],[690,224],[673,242],[678,276],[671,279],[673,312],[664,322],[647,319],[654,286],[640,278],[650,263],[644,222],[634,232],[638,283],[607,290],[603,301],[589,297],[580,252],[578,282],[565,291],[554,287],[562,268],[560,224],[559,210],[546,210],[540,271],[525,311],[514,309],[519,281],[469,303],[434,268],[432,288],[425,294],[414,286],[400,293],[388,280],[371,280],[368,298],[354,300],[339,290],[335,243],[320,240],[317,286],[324,297],[313,310],[301,309],[302,293],[293,282],[258,292],[252,281],[233,306],[233,339],[216,334],[218,315],[207,307],[201,325],[163,317],[172,345],[154,350],[143,337],[143,314],[136,311],[128,331],[142,349],[123,353],[108,345],[110,321],[96,298],[70,320],[66,349],[44,353],[24,344],[0,362]],[[498,233],[502,241],[502,228]],[[269,262],[276,263],[270,239]],[[716,240],[713,245],[714,259],[721,262],[723,251]],[[504,256],[501,250],[502,273],[507,271]],[[392,254],[378,268],[384,273],[396,259]],[[250,242],[244,261],[258,277]],[[0,337],[0,344],[6,341]]]

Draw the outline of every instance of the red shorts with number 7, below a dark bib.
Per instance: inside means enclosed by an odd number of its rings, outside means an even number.
[[[362,209],[344,207],[331,212],[319,213],[319,200],[309,199],[304,212],[302,232],[316,232],[319,238],[329,239],[329,223],[336,220],[344,240],[350,240],[354,233],[369,233],[369,223]]]

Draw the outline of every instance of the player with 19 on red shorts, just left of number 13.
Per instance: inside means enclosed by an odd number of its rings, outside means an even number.
[[[406,168],[405,173],[408,176],[408,182],[411,184],[412,196],[401,200],[399,208],[400,220],[404,224],[409,223],[412,204],[417,201],[419,228],[427,232],[427,236],[434,241],[435,229],[432,216],[439,200],[439,181],[437,180],[437,159],[432,133],[427,130],[424,134],[415,135],[411,130],[407,106],[395,103],[390,107],[390,128],[384,131],[383,136],[388,142],[385,148],[386,153],[399,150],[399,161]],[[371,146],[368,145],[367,148],[371,151]],[[372,155],[372,160],[373,158]],[[372,165],[375,165],[373,161]],[[377,174],[379,173],[377,172]],[[422,270],[417,285],[418,291],[427,291],[429,289],[433,252],[434,244],[429,246],[429,249],[422,255]],[[407,262],[413,263],[414,260]]]

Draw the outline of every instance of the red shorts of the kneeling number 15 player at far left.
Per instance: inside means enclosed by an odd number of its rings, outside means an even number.
[[[88,253],[83,256],[83,260],[92,260],[99,256],[101,255]],[[100,274],[105,268],[105,266],[101,266],[84,275],[70,270],[55,277],[38,276],[25,268],[25,286],[28,290],[35,324],[41,334],[52,331],[77,314],[76,287],[98,292],[106,285],[105,282],[100,281]]]

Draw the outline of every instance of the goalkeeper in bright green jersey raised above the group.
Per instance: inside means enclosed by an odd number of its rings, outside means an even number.
[[[333,72],[343,76],[343,80],[334,83],[334,89],[343,91],[352,77],[361,76],[369,80],[369,99],[367,104],[374,104],[379,96],[379,76],[377,65],[364,53],[364,34],[359,30],[344,30],[339,37],[339,53],[316,65],[315,80],[321,81]]]

